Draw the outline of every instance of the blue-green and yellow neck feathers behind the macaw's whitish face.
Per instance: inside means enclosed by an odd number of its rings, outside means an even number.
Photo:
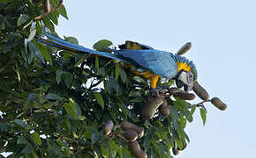
[[[174,55],[174,56],[175,56],[175,60],[177,62],[177,72],[179,72],[180,70],[192,71],[192,73],[195,76],[194,79],[197,79],[198,73],[197,73],[197,70],[196,70],[193,62],[187,60],[185,57],[180,56],[180,55]]]

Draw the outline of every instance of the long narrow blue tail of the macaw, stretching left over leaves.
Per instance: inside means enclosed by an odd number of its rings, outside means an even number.
[[[51,36],[49,34],[45,34],[45,36],[48,39],[43,39],[41,37],[36,37],[35,39],[37,41],[40,41],[41,43],[47,44],[51,47],[57,47],[57,48],[60,48],[60,49],[72,51],[74,53],[98,54],[98,55],[101,55],[101,56],[104,56],[104,57],[107,57],[107,58],[116,59],[116,60],[124,61],[124,62],[129,62],[129,61],[126,61],[124,59],[121,59],[117,54],[95,51],[95,50],[89,49],[87,47],[82,47],[82,46],[75,45],[73,43],[64,41],[64,39],[56,38],[56,37]]]

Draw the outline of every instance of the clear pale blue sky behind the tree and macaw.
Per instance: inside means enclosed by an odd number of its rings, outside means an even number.
[[[56,31],[77,37],[85,47],[99,39],[116,44],[130,39],[175,53],[191,41],[185,56],[195,62],[199,82],[228,109],[218,111],[206,104],[206,126],[197,111],[186,127],[191,143],[177,158],[256,157],[255,0],[65,0],[64,4],[70,20],[62,18]]]

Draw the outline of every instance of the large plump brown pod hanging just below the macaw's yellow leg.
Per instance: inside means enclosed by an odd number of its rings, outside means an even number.
[[[163,103],[161,97],[148,97],[147,103],[142,108],[141,115],[145,119],[153,118],[154,111]]]

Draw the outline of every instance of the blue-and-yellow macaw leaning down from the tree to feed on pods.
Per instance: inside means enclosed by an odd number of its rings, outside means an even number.
[[[108,48],[112,53],[106,53],[75,45],[49,34],[46,34],[46,37],[47,39],[37,37],[37,40],[74,53],[98,54],[124,61],[127,64],[126,68],[130,68],[136,75],[147,78],[152,89],[155,89],[160,77],[175,79],[177,87],[184,87],[186,92],[192,90],[192,85],[197,80],[197,70],[192,61],[178,54],[156,50],[137,42],[126,41],[124,45],[119,46],[119,50]]]

